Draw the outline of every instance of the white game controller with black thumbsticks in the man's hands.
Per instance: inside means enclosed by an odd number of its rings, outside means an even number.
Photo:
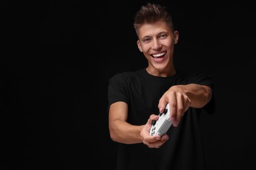
[[[165,110],[158,114],[158,116],[158,120],[152,120],[152,127],[150,129],[150,135],[152,136],[163,136],[173,124],[170,119],[169,103],[165,106]]]

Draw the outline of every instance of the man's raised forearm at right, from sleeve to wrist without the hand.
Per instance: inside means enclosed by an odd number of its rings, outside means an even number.
[[[211,88],[199,84],[177,85],[172,86],[169,90],[175,91],[179,88],[181,88],[190,99],[190,107],[202,108],[211,100],[212,97]]]

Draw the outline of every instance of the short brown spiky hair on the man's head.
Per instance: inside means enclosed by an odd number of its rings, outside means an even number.
[[[159,20],[166,22],[173,31],[175,30],[173,26],[173,18],[167,11],[166,7],[152,3],[148,3],[140,7],[140,10],[136,13],[135,20],[133,22],[133,27],[135,28],[137,36],[139,36],[139,28],[141,25],[154,23]]]

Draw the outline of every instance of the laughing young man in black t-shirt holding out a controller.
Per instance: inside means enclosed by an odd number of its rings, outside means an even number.
[[[108,86],[110,137],[119,143],[117,169],[205,169],[198,118],[211,101],[213,82],[175,69],[179,32],[165,7],[142,6],[134,27],[148,66],[118,73]],[[167,103],[173,125],[163,136],[150,135],[152,120]]]

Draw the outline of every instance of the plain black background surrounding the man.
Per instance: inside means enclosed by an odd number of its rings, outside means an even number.
[[[133,16],[147,1],[1,1],[1,169],[115,169],[110,76],[146,66]],[[154,2],[154,1],[151,1]],[[246,1],[158,1],[177,69],[215,81],[200,119],[211,169],[255,167],[255,12]]]

